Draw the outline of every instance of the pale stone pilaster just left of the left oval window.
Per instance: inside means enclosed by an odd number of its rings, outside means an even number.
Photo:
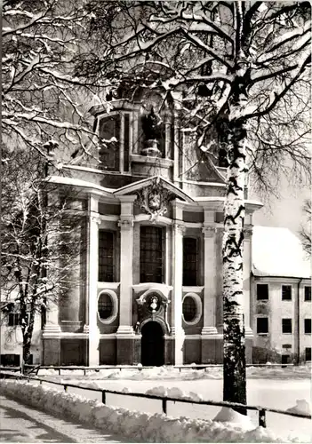
[[[98,200],[90,198],[89,218],[89,366],[100,364],[100,330],[98,328],[98,278],[99,278],[99,225]]]

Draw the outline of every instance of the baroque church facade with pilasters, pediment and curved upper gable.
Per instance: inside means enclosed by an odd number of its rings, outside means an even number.
[[[153,74],[112,97],[109,109],[92,107],[95,131],[106,141],[100,162],[64,165],[62,175],[49,178],[75,189],[87,248],[77,252],[77,285],[46,313],[44,365],[222,361],[224,160],[198,153],[191,125],[182,125],[188,112],[180,99],[164,99],[148,81]],[[252,214],[260,206],[246,189],[249,362]]]

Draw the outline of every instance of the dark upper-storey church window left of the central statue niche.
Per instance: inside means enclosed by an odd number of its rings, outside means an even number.
[[[101,170],[119,171],[121,115],[111,115],[100,120],[101,141],[99,160]],[[112,138],[116,140],[109,141]]]

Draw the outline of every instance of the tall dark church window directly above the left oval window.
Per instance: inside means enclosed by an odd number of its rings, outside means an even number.
[[[99,230],[99,281],[115,281],[115,233]]]

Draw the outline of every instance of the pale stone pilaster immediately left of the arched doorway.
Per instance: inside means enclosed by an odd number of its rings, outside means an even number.
[[[120,301],[117,329],[117,363],[132,364],[132,258],[133,202],[136,196],[121,196],[120,226]]]

